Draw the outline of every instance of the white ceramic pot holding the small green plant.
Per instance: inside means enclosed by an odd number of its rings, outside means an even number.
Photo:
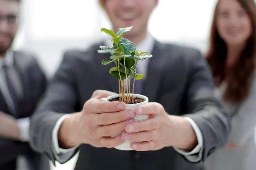
[[[130,96],[132,96],[132,94],[130,94]],[[107,98],[102,98],[101,100],[109,101],[110,99],[114,99],[116,97],[119,97],[119,94],[108,96]],[[135,111],[135,109],[137,107],[139,107],[140,105],[144,105],[144,104],[148,103],[148,97],[146,97],[146,96],[143,96],[141,94],[134,94],[134,97],[139,97],[139,98],[145,99],[145,101],[141,102],[141,103],[126,105],[125,110],[133,110],[133,111]],[[134,117],[134,119],[136,121],[142,121],[142,120],[148,119],[148,115],[136,115]],[[113,135],[111,137],[118,136],[118,135],[122,134],[123,132],[125,132],[125,131],[122,131],[121,133],[118,133],[118,134]],[[119,149],[119,150],[132,150],[131,149],[131,143],[133,143],[133,142],[142,142],[142,141],[128,141],[128,140],[126,140],[124,143],[116,146],[115,148]]]

